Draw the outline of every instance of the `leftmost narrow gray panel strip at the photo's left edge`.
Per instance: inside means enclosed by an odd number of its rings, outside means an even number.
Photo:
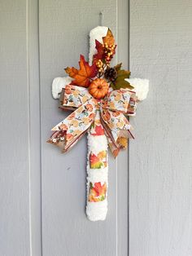
[[[0,255],[30,254],[26,1],[0,7]]]

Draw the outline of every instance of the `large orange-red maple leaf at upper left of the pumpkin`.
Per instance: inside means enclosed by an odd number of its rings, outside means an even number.
[[[93,64],[92,66],[89,66],[88,62],[85,61],[85,57],[80,55],[79,66],[79,70],[74,67],[68,67],[65,68],[65,71],[68,73],[69,77],[74,78],[71,82],[72,85],[88,87],[90,84],[90,78],[95,77],[98,73],[96,65]]]

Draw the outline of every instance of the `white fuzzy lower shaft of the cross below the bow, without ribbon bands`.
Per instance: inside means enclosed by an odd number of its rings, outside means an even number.
[[[108,164],[107,167],[102,169],[89,168],[89,155],[90,152],[97,154],[103,150],[107,151],[107,137],[105,135],[93,136],[88,133],[88,153],[87,153],[87,203],[86,215],[91,221],[105,220],[107,216],[107,192],[104,201],[89,202],[89,183],[100,182],[107,184],[108,188]]]

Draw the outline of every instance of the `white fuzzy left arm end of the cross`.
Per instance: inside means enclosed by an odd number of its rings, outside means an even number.
[[[67,86],[72,82],[72,77],[56,77],[52,82],[52,95],[54,99],[59,99],[59,94],[64,86]]]

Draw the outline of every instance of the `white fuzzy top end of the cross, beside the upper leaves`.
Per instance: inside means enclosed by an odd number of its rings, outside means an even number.
[[[103,43],[103,37],[107,35],[107,27],[98,26],[89,33],[89,65],[92,64],[93,55],[97,53],[95,49],[95,40]]]

